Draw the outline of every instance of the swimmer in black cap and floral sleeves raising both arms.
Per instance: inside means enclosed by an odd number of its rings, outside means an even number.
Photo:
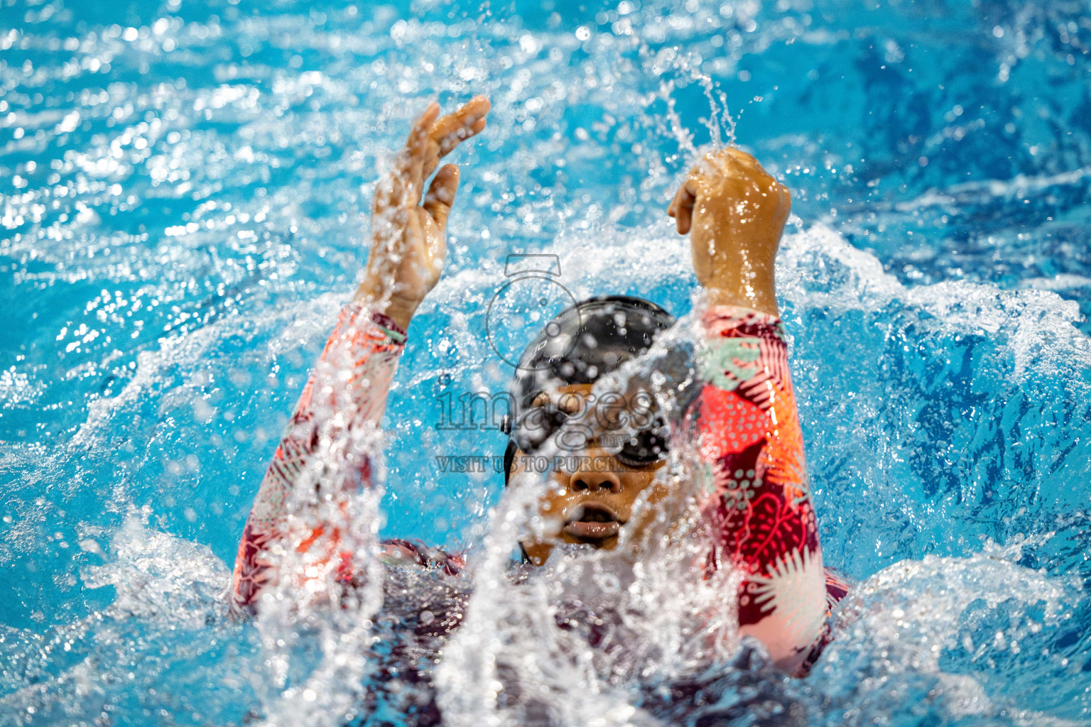
[[[338,427],[377,424],[383,415],[410,322],[439,281],[446,255],[459,170],[440,161],[484,130],[489,108],[477,97],[441,117],[439,104],[430,104],[376,190],[363,281],[341,310],[242,534],[232,592],[238,611],[253,611],[263,586],[276,578],[272,553],[287,537],[286,499],[314,455],[320,429],[328,436]],[[623,528],[644,526],[636,512],[643,494],[649,506],[662,506],[667,493],[657,474],[668,451],[688,448],[698,459],[702,512],[715,533],[717,552],[708,562],[743,575],[731,594],[742,633],[760,640],[780,668],[803,675],[822,649],[829,606],[844,586],[823,567],[778,317],[774,262],[790,208],[788,190],[739,149],[710,152],[691,170],[667,214],[680,234],[690,234],[706,301],[697,384],[679,392],[684,407],[672,422],[649,402],[630,400],[612,409],[622,424],[585,431],[577,447],[568,443],[564,453],[572,457],[549,473],[539,501],[552,530],[518,545],[532,566],[544,564],[559,543],[616,548]],[[645,353],[673,323],[658,305],[628,296],[595,298],[554,318],[523,354],[513,383],[505,482],[532,470],[535,455],[549,451],[549,443],[586,416],[597,380]],[[558,343],[571,340],[572,348]],[[348,363],[324,365],[329,362]],[[359,476],[346,486],[367,486],[369,463],[357,469]],[[281,545],[305,550],[311,540]],[[457,556],[405,541],[384,548],[388,562],[452,574],[463,567]]]

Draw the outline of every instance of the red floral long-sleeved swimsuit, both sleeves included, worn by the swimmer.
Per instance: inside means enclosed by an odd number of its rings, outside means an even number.
[[[702,326],[696,356],[702,385],[679,436],[700,463],[702,509],[716,534],[708,567],[742,572],[734,596],[741,631],[803,675],[828,640],[829,609],[847,586],[823,568],[783,326],[775,316],[730,306],[706,311]],[[235,565],[237,611],[253,610],[273,574],[266,552],[285,535],[286,499],[315,452],[320,429],[335,435],[338,427],[377,424],[405,340],[405,331],[384,315],[358,303],[341,310],[247,521]],[[332,411],[338,415],[329,417]],[[356,470],[359,476],[346,487],[370,483],[367,459]],[[464,566],[459,556],[407,541],[388,541],[384,550],[388,565],[436,567],[452,575]],[[352,564],[341,558],[345,580],[351,580]]]

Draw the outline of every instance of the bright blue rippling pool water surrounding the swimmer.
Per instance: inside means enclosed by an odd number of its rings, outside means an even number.
[[[221,590],[387,150],[475,94],[381,535],[503,532],[497,476],[435,457],[502,452],[436,424],[511,373],[485,336],[505,256],[685,313],[664,208],[733,137],[794,196],[779,292],[825,557],[860,582],[805,681],[740,663],[700,722],[558,677],[554,722],[1091,724],[1089,47],[1082,0],[4,0],[0,724],[367,720],[351,684],[389,623],[235,625]],[[312,632],[371,661],[329,671],[347,652]],[[475,647],[552,642],[467,633],[448,723],[514,724]]]

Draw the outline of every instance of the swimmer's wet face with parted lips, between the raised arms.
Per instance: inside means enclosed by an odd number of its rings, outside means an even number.
[[[570,414],[578,414],[587,411],[590,395],[590,384],[573,384],[539,395],[531,405],[552,404]],[[602,443],[591,439],[577,451],[564,452],[563,465],[552,469],[546,493],[538,501],[546,535],[520,543],[532,564],[546,562],[556,543],[583,543],[613,549],[618,547],[623,526],[640,531],[650,524],[651,513],[648,512],[636,513],[634,520],[634,507],[646,490],[650,490],[649,502],[666,497],[666,488],[656,482],[656,473],[662,469],[664,460],[626,462],[622,461],[624,452],[611,453],[615,450],[613,447],[607,451]],[[515,478],[527,471],[535,472],[533,458],[517,450],[512,476]]]

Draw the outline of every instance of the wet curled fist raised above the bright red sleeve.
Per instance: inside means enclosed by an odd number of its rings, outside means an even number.
[[[714,305],[778,315],[774,259],[792,208],[788,189],[745,152],[709,152],[667,214],[691,233],[693,267]]]

